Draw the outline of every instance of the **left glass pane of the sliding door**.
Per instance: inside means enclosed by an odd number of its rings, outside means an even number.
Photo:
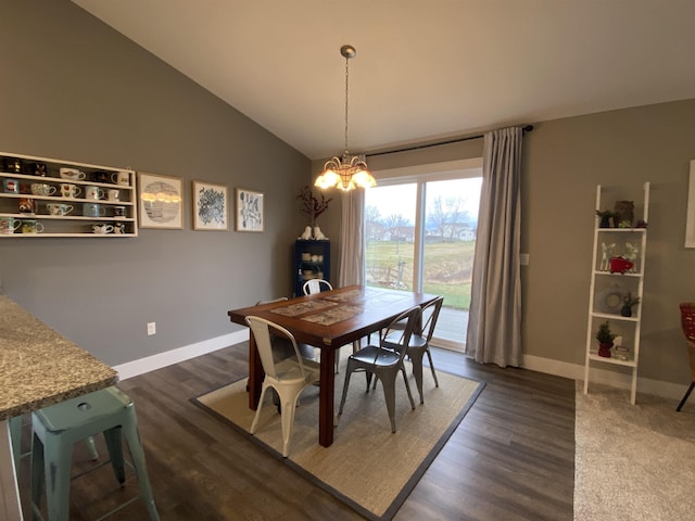
[[[367,284],[413,291],[415,183],[365,192]]]

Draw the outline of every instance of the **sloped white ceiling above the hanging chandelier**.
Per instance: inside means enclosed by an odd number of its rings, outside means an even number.
[[[309,158],[695,98],[695,0],[73,0]]]

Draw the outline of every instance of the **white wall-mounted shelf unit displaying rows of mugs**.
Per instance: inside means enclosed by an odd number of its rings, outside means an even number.
[[[7,162],[16,161],[16,167],[7,168]],[[43,165],[45,175],[33,173],[35,165]],[[60,176],[61,168],[76,168],[86,174],[84,180],[63,179]],[[111,180],[111,175],[125,171],[129,174],[128,185],[119,185]],[[20,185],[20,193],[4,191],[4,180],[14,179]],[[36,195],[30,191],[33,183],[43,183],[55,187],[53,195]],[[60,185],[76,185],[81,189],[81,196],[64,198],[60,193]],[[92,186],[100,189],[117,189],[118,201],[108,199],[85,199],[85,187]],[[18,208],[20,200],[34,200],[37,209],[34,213],[22,213]],[[104,216],[92,217],[81,215],[83,204],[98,204],[104,211]],[[73,211],[68,215],[51,215],[47,209],[48,204],[70,204]],[[116,217],[114,208],[123,206],[125,216]],[[18,220],[33,219],[39,221],[45,231],[41,233],[22,233],[21,229],[14,233],[0,233],[2,239],[35,239],[40,237],[137,237],[137,192],[136,173],[130,168],[117,168],[112,166],[77,163],[74,161],[55,160],[34,155],[17,154],[13,152],[0,152],[0,217],[14,217]],[[123,233],[93,233],[92,225],[118,225],[123,227]]]

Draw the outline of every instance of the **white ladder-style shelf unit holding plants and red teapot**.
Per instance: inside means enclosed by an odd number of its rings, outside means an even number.
[[[645,182],[642,201],[642,220],[649,221],[649,183]],[[596,187],[596,211],[604,211],[606,201],[604,189]],[[615,201],[609,202],[609,204]],[[604,206],[602,206],[604,205]],[[635,211],[639,208],[635,208]],[[635,215],[636,217],[636,215]],[[630,403],[636,402],[637,366],[640,361],[640,334],[642,325],[642,297],[644,292],[644,260],[647,245],[647,229],[644,228],[599,228],[599,217],[594,227],[594,252],[592,257],[591,284],[589,293],[589,318],[586,323],[586,356],[584,361],[584,394],[589,393],[590,369],[592,364],[620,366],[629,368],[631,372]],[[634,223],[633,223],[634,225]],[[604,254],[604,246],[608,254]],[[612,246],[612,247],[611,247]],[[632,249],[630,247],[632,246]],[[634,267],[624,274],[611,272],[610,256],[621,256],[636,247]],[[640,302],[632,308],[632,316],[620,314],[622,302],[627,293],[640,297]],[[611,356],[598,356],[598,344],[594,338],[598,325],[608,320],[612,332],[622,336],[622,346],[629,350],[626,359]],[[612,351],[612,350],[611,350]]]

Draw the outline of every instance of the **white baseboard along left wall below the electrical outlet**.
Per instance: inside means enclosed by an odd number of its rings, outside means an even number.
[[[247,340],[249,340],[249,329],[244,328],[223,336],[204,340],[195,344],[185,345],[165,353],[159,353],[146,358],[128,361],[126,364],[115,366],[114,369],[118,371],[118,378],[121,380],[126,380],[128,378],[137,377],[138,374],[143,374],[173,364],[195,358],[197,356],[212,353],[213,351],[222,350],[223,347],[229,347],[230,345],[245,342]]]

